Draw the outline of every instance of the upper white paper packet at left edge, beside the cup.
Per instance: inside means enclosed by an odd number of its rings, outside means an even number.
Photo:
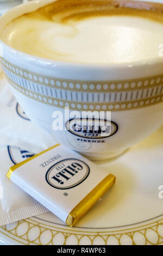
[[[0,71],[0,79],[2,77]],[[0,144],[15,145],[39,153],[56,142],[35,126],[23,112],[5,79],[0,80]]]

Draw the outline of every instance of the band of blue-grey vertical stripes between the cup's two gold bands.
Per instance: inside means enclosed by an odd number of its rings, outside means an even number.
[[[24,80],[24,78],[16,77],[11,75],[11,73],[4,69],[5,75],[11,83],[17,84],[24,89],[29,89],[33,93],[39,93],[41,95],[56,97],[60,100],[77,101],[77,102],[124,102],[133,101],[139,99],[146,99],[148,97],[153,97],[163,93],[163,86],[158,86],[154,88],[147,88],[143,90],[135,90],[134,92],[114,92],[114,93],[87,93],[87,92],[70,92],[67,90],[60,90],[56,88],[46,87],[43,84],[36,84]]]

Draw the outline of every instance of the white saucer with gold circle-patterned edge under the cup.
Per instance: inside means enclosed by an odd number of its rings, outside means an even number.
[[[163,127],[114,161],[98,164],[99,172],[106,168],[116,175],[116,184],[76,227],[45,214],[0,228],[0,241],[10,245],[163,245],[162,156]]]

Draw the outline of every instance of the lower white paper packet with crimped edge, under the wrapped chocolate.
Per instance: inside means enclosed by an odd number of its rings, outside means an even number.
[[[0,146],[0,226],[48,212],[6,177],[7,170],[13,164],[33,155],[17,147]]]

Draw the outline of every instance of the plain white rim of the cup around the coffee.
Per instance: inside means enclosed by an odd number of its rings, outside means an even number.
[[[24,8],[27,5],[33,5],[33,4],[40,4],[45,2],[45,5],[53,3],[55,1],[58,0],[33,0],[27,3],[22,3],[20,5],[17,5],[16,7],[10,9],[9,11],[7,11],[6,13],[4,13],[1,17],[0,17],[0,26],[1,26],[1,22],[3,21],[3,19],[7,16],[9,16],[13,11],[18,11],[18,10],[25,10]],[[137,1],[140,2],[140,1]],[[146,3],[145,1],[142,1],[144,3]],[[141,3],[142,3],[141,2]],[[153,1],[151,1],[153,2]],[[42,5],[45,6],[45,5]],[[162,3],[163,5],[163,3]],[[41,7],[40,7],[41,8]],[[23,11],[22,14],[23,15]],[[20,16],[20,15],[18,15]],[[17,17],[18,17],[17,16]],[[3,26],[3,28],[7,25],[7,23]],[[3,29],[2,28],[2,29]],[[75,69],[81,69],[81,68],[86,68],[86,69],[128,69],[128,68],[137,68],[137,67],[141,67],[141,66],[152,66],[152,65],[158,65],[158,64],[162,64],[163,63],[163,56],[162,57],[154,57],[154,58],[149,58],[146,60],[136,60],[135,62],[124,62],[124,63],[80,63],[80,62],[68,62],[66,60],[64,61],[60,61],[60,60],[55,60],[55,59],[48,59],[48,58],[42,58],[42,57],[38,57],[32,54],[28,54],[26,52],[22,52],[19,50],[16,50],[15,48],[5,44],[5,42],[2,41],[2,39],[0,38],[0,46],[4,45],[5,48],[8,49],[8,51],[12,52],[15,54],[15,56],[20,56],[20,57],[24,57],[26,58],[26,60],[29,60],[30,62],[33,60],[35,63],[37,64],[41,64],[44,66],[70,66],[71,68],[74,66]]]

